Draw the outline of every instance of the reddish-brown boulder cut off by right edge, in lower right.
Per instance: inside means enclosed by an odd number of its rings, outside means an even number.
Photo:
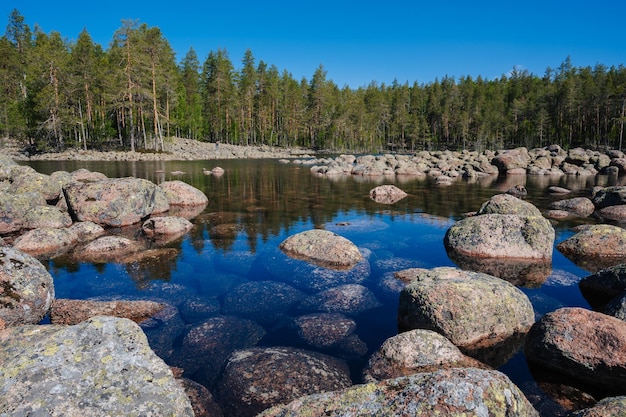
[[[626,391],[626,322],[582,308],[544,315],[526,338],[529,362],[607,392]]]

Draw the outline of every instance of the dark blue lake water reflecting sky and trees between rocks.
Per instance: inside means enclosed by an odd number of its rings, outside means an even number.
[[[45,263],[54,277],[57,298],[145,297],[163,299],[173,305],[180,305],[181,297],[209,300],[207,305],[213,308],[206,309],[204,315],[188,316],[182,329],[189,329],[198,317],[224,313],[229,291],[243,283],[289,283],[305,295],[314,294],[314,288],[286,276],[281,271],[281,262],[276,261],[281,256],[278,246],[288,236],[324,228],[354,242],[369,260],[368,276],[362,277],[361,283],[379,301],[375,308],[352,315],[357,324],[355,333],[367,347],[366,353],[347,357],[355,383],[360,382],[361,370],[369,355],[386,338],[397,334],[398,294],[385,287],[385,278],[394,271],[410,267],[455,266],[446,254],[443,237],[465,213],[478,210],[494,194],[518,184],[527,188],[526,200],[542,210],[546,210],[550,202],[564,198],[551,196],[547,192],[549,186],[573,190],[565,197],[571,198],[588,195],[596,185],[614,185],[605,176],[491,177],[474,182],[458,180],[451,186],[437,186],[428,179],[400,177],[325,178],[312,175],[306,165],[283,164],[276,160],[33,161],[28,164],[47,174],[86,168],[109,177],[133,176],[155,183],[180,179],[208,196],[208,206],[192,220],[195,224],[192,232],[168,245],[176,249],[172,256],[126,265],[77,265],[63,258]],[[225,174],[220,177],[203,174],[203,168],[215,166],[224,168]],[[175,176],[174,171],[184,174]],[[382,184],[395,184],[409,196],[393,205],[378,204],[369,198],[369,190]],[[571,236],[575,226],[594,221],[588,218],[555,222],[555,245]],[[554,250],[552,274],[545,282],[522,284],[520,288],[529,296],[537,317],[564,306],[589,308],[577,285],[578,280],[589,274]],[[511,277],[511,281],[515,280]],[[228,313],[237,315],[237,308],[229,307]],[[254,317],[265,331],[258,344],[304,346],[314,350],[303,345],[289,325],[291,318],[298,314],[301,313],[290,309],[280,316]],[[173,336],[174,350],[180,346],[181,338],[182,335]],[[176,352],[164,355],[175,357]],[[499,369],[523,391],[537,395],[521,352],[508,355]]]

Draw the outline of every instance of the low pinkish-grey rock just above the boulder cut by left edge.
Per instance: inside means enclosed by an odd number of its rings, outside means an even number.
[[[69,228],[45,228],[29,230],[15,239],[13,247],[37,259],[52,259],[69,251],[77,241]]]

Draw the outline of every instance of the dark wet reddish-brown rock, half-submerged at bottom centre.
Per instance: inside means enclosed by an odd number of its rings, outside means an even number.
[[[351,384],[343,361],[301,349],[269,347],[234,352],[218,389],[225,416],[247,417],[276,404]]]

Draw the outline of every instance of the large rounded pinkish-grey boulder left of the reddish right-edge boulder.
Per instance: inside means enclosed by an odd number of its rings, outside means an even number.
[[[504,280],[450,267],[416,273],[400,293],[401,330],[434,330],[473,348],[524,334],[535,322],[528,297]]]

